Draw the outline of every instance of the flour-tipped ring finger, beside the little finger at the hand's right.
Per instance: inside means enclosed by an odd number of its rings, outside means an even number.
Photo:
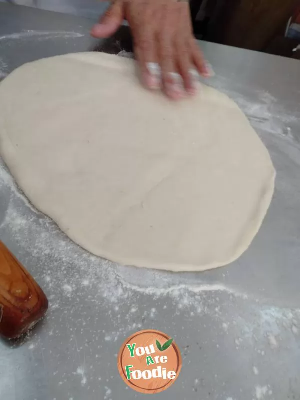
[[[177,65],[182,76],[185,90],[188,94],[194,95],[197,91],[197,77],[192,72],[192,59],[189,46],[178,38],[176,42]]]

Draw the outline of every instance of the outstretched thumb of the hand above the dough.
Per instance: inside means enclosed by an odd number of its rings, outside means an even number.
[[[123,21],[123,2],[116,0],[105,12],[104,16],[95,24],[90,34],[93,37],[108,37],[117,31]]]

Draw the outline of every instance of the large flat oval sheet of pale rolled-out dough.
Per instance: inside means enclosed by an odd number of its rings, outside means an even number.
[[[171,102],[134,61],[79,53],[0,84],[0,151],[30,201],[75,242],[121,264],[228,264],[274,190],[269,154],[238,106],[203,86]]]

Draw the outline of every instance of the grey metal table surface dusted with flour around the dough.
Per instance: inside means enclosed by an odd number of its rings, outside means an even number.
[[[0,4],[2,77],[27,61],[94,49],[91,25]],[[300,63],[200,45],[216,72],[208,83],[240,105],[277,170],[259,233],[237,261],[203,273],[116,265],[36,211],[2,163],[0,237],[43,287],[49,311],[19,342],[0,341],[1,399],[144,398],[126,387],[116,360],[144,328],[181,349],[182,371],[162,399],[300,398]]]

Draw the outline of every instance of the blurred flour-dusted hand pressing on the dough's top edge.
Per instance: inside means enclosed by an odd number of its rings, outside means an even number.
[[[195,94],[199,74],[213,75],[192,33],[189,4],[176,0],[114,0],[91,35],[108,37],[126,19],[142,83],[172,99]]]

